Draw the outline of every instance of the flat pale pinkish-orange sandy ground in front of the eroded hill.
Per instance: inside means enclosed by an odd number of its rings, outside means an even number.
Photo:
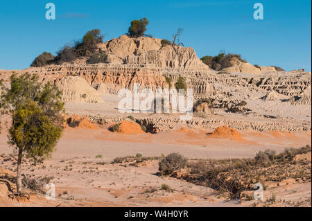
[[[116,96],[107,95],[104,100],[105,105],[68,103],[67,113],[119,114]],[[284,148],[311,143],[311,131],[245,130],[240,131],[242,139],[218,139],[211,137],[214,128],[207,127],[181,126],[157,134],[119,134],[108,130],[109,126],[101,125],[94,130],[67,127],[51,159],[37,166],[24,159],[22,173],[31,178],[52,177],[55,200],[46,200],[44,195],[32,195],[30,202],[0,197],[0,206],[263,206],[264,203],[254,204],[254,201],[229,200],[211,188],[182,179],[160,177],[156,175],[157,159],[142,163],[112,161],[137,153],[144,157],[159,157],[171,152],[179,152],[189,159],[235,159],[254,157],[259,150],[281,152]],[[6,131],[3,130],[0,134],[0,167],[15,171],[15,154],[6,142]],[[162,184],[173,191],[163,190]],[[277,195],[277,201],[270,206],[311,206],[311,182],[271,186],[264,191],[264,199],[272,193]]]

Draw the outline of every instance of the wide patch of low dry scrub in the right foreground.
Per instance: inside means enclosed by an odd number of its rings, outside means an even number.
[[[258,182],[263,184],[263,188],[266,188],[266,182],[277,182],[278,185],[290,178],[297,182],[311,182],[311,161],[293,160],[297,154],[308,152],[311,152],[311,146],[306,145],[287,148],[280,154],[272,150],[260,151],[253,159],[189,160],[186,168],[189,173],[184,173],[180,178],[213,188],[219,194],[240,198],[243,191],[253,190]],[[164,158],[159,162],[161,175],[176,175],[172,167],[166,166],[174,164],[171,161]]]

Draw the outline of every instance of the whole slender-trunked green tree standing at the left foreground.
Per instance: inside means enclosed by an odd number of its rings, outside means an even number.
[[[0,82],[1,114],[9,114],[12,125],[8,144],[17,152],[17,193],[21,193],[21,159],[23,154],[34,160],[51,157],[62,135],[64,103],[62,91],[38,76],[26,73],[10,76],[10,87]]]

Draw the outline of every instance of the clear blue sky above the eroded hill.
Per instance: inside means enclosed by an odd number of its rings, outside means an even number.
[[[46,3],[56,19],[46,20]],[[254,3],[264,19],[253,19]],[[199,58],[220,50],[239,53],[251,64],[311,71],[311,1],[0,1],[0,69],[24,69],[43,51],[55,51],[94,28],[105,39],[127,32],[130,21],[147,17],[146,33],[171,39],[177,28],[184,46]]]

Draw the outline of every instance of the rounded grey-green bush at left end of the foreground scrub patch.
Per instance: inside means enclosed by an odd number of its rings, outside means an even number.
[[[187,159],[181,154],[171,153],[159,161],[159,173],[161,175],[170,175],[175,170],[180,170],[187,165]]]

